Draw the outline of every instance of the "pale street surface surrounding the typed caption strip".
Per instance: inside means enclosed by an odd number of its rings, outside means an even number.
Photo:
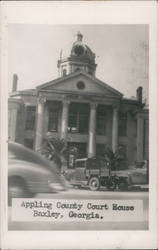
[[[142,200],[143,221],[125,222],[17,222],[11,221],[11,207],[9,207],[9,230],[147,230],[148,229],[148,192],[120,192],[120,191],[90,191],[88,189],[70,188],[65,192],[38,194],[35,198],[64,199],[64,200]],[[128,202],[127,202],[128,204]]]

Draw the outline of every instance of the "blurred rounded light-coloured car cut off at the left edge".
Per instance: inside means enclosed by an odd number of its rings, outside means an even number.
[[[21,144],[8,143],[8,201],[66,189],[57,165]]]

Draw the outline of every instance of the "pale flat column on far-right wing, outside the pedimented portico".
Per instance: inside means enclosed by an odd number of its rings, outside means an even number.
[[[144,137],[144,120],[137,116],[137,161],[143,160],[143,137]]]

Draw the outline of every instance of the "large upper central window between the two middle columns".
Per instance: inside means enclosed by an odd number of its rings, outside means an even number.
[[[69,112],[68,131],[71,133],[88,133],[89,109],[85,104],[72,104]]]

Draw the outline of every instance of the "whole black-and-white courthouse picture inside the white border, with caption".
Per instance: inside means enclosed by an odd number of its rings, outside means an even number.
[[[10,235],[150,232],[151,31],[148,22],[8,22]]]

